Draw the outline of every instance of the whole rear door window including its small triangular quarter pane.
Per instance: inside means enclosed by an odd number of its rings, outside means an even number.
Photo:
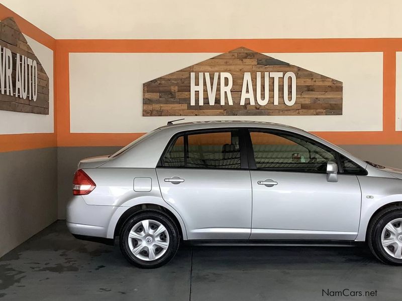
[[[165,167],[240,169],[238,130],[188,133],[176,138],[163,157]]]

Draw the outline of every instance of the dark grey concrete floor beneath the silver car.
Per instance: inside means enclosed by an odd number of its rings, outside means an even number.
[[[76,240],[63,221],[0,259],[2,300],[400,300],[401,283],[402,267],[350,247],[181,247],[142,270],[118,246]],[[345,288],[377,296],[323,296]]]

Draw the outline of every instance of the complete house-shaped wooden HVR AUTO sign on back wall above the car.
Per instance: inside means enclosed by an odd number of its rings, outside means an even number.
[[[143,116],[342,115],[342,82],[241,47],[143,84]]]

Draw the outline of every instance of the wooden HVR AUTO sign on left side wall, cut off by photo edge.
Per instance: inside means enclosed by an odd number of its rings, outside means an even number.
[[[13,18],[0,22],[0,110],[49,114],[49,77]]]

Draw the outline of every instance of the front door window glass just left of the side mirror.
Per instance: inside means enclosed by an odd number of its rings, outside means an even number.
[[[308,138],[279,132],[250,131],[257,169],[326,173],[335,152]]]

